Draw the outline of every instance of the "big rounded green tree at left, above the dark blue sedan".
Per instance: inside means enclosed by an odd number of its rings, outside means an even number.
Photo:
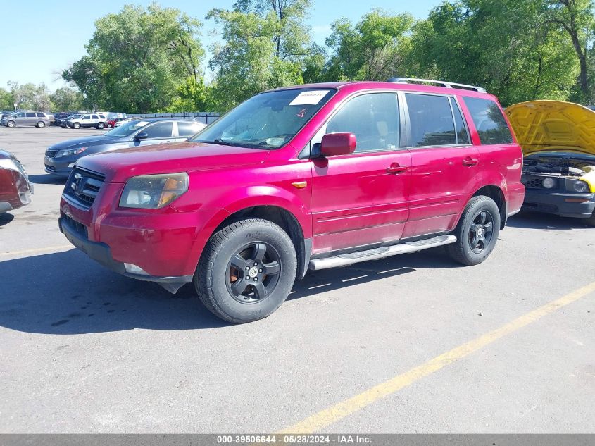
[[[177,8],[124,6],[95,23],[87,55],[63,71],[94,108],[165,109],[187,78],[198,82],[201,23]]]

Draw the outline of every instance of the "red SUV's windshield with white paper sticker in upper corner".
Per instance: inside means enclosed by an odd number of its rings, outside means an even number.
[[[327,103],[334,89],[289,89],[257,94],[192,138],[196,142],[277,149]]]

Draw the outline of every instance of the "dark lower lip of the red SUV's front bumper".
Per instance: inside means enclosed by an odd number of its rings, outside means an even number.
[[[72,218],[61,217],[58,220],[58,226],[61,233],[65,235],[70,243],[87,254],[99,264],[105,266],[115,273],[125,275],[138,280],[156,282],[162,285],[165,290],[177,292],[182,285],[192,281],[192,275],[180,276],[156,276],[142,273],[131,273],[123,262],[113,259],[111,249],[106,243],[92,242],[86,236],[86,228],[82,223],[76,223]]]

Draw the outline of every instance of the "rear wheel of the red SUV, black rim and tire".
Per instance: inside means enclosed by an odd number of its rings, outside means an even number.
[[[446,251],[460,264],[481,264],[494,250],[499,233],[500,210],[496,202],[484,195],[472,197],[453,231],[457,240],[447,244]]]

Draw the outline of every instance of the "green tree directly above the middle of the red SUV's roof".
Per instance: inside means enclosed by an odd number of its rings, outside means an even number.
[[[375,10],[356,26],[346,19],[332,25],[327,46],[333,49],[327,66],[328,80],[387,80],[403,75],[411,51],[411,14],[391,16]]]

